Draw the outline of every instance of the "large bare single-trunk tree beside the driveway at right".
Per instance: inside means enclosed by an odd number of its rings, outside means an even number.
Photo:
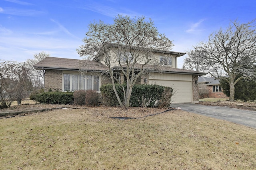
[[[230,100],[234,100],[235,84],[242,80],[256,78],[256,20],[248,23],[232,22],[226,30],[220,29],[209,36],[195,50],[205,53],[202,60],[207,61],[212,76],[224,79],[230,86]],[[226,76],[220,75],[222,70]],[[236,76],[242,76],[236,79]]]

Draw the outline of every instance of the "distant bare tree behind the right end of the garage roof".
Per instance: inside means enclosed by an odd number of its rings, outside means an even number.
[[[194,70],[199,72],[209,71],[209,64],[207,63],[207,61],[202,60],[203,56],[205,55],[203,51],[190,50],[186,51],[186,54],[188,56],[184,59],[182,69]]]

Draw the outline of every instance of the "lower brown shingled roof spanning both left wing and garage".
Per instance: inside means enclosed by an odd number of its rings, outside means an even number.
[[[43,70],[79,70],[79,63],[84,64],[85,69],[88,71],[97,71],[104,72],[108,69],[107,66],[98,62],[98,61],[89,61],[89,60],[78,60],[78,59],[65,59],[65,58],[57,58],[57,57],[46,57],[39,63],[34,65],[35,69],[43,69]],[[135,68],[138,70],[141,68],[142,64],[136,64]],[[123,66],[125,68],[125,66]],[[193,70],[184,70],[180,68],[173,68],[170,66],[159,66],[159,65],[144,65],[146,70],[153,70],[153,72],[162,72],[162,73],[175,73],[175,74],[196,74],[196,75],[206,75],[205,72],[198,72]],[[118,70],[118,67],[114,68]]]

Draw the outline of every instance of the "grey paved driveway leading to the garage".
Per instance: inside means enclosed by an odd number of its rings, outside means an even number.
[[[256,111],[200,104],[171,104],[171,107],[180,107],[184,111],[231,121],[256,129]]]

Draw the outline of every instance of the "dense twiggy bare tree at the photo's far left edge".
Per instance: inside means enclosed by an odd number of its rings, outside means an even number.
[[[1,108],[10,107],[14,100],[21,104],[22,98],[32,89],[30,69],[26,63],[1,61],[0,70]]]

